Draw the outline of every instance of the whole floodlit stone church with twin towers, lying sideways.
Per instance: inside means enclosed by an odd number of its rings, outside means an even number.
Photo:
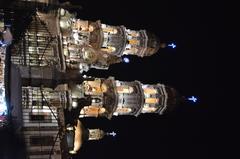
[[[77,153],[83,141],[106,135],[99,129],[84,128],[79,118],[162,115],[178,104],[180,95],[164,84],[82,75],[91,68],[106,70],[122,62],[123,55],[145,57],[157,53],[166,44],[154,34],[81,20],[65,9],[41,11],[46,7],[42,3],[38,7],[37,11],[14,7],[14,11],[3,12],[4,21],[14,19],[14,40],[9,47],[0,46],[1,69],[5,72],[0,89],[11,91],[6,93],[6,103],[12,107],[9,114],[17,130],[22,131],[29,158],[42,158],[49,152],[52,157],[65,158],[64,152]],[[4,43],[6,31],[2,35]],[[7,68],[10,73],[4,71]],[[74,121],[68,122],[67,118]]]

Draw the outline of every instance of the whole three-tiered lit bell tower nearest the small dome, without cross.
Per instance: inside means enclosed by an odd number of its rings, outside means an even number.
[[[173,110],[181,96],[164,84],[143,84],[139,81],[119,81],[107,79],[85,79],[72,90],[73,109],[80,112],[79,117],[107,117],[118,115],[138,116],[141,113],[164,114]],[[81,92],[81,93],[80,93]],[[74,101],[88,98],[85,105]]]

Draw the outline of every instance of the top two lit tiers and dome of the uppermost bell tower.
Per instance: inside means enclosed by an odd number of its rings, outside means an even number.
[[[101,24],[103,43],[101,50],[114,54],[136,55],[140,57],[151,56],[160,48],[166,47],[158,37],[146,30],[131,30],[125,26],[111,26]]]

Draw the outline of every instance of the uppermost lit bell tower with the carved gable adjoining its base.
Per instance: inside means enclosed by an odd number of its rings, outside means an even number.
[[[67,68],[80,72],[108,69],[111,64],[121,62],[123,55],[151,56],[166,46],[146,30],[78,19],[64,9],[60,10],[59,26]]]

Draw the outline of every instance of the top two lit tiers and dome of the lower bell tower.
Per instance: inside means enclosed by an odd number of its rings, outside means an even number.
[[[116,80],[118,96],[117,109],[113,115],[134,115],[158,113],[173,110],[181,97],[178,92],[164,84],[142,84],[139,81],[122,82]]]

